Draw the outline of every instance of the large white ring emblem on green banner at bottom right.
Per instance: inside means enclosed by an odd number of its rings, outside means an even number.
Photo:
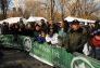
[[[95,67],[90,64],[88,59],[78,56],[72,59],[71,68],[95,68]]]

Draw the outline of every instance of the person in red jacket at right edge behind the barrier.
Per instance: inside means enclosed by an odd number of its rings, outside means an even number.
[[[90,39],[91,56],[100,60],[100,29],[93,31],[92,38]]]

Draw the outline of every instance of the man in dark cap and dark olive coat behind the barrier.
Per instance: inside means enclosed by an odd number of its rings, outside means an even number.
[[[67,49],[71,53],[83,53],[84,44],[87,41],[87,37],[84,35],[84,29],[80,27],[77,19],[71,24],[71,30],[68,31]]]

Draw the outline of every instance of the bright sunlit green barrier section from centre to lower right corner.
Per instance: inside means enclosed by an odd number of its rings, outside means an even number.
[[[37,55],[39,58],[61,68],[100,68],[100,62],[75,53],[67,53],[62,47],[48,45],[47,43],[39,44],[34,42],[30,55]],[[33,55],[32,55],[33,56]],[[47,64],[48,64],[47,63]]]

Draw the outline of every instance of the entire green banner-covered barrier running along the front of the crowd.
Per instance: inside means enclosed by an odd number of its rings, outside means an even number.
[[[63,47],[57,47],[48,43],[35,42],[34,38],[30,37],[18,36],[17,41],[15,41],[12,35],[2,35],[0,36],[0,42],[7,47],[18,46],[17,49],[26,50],[30,56],[51,66],[59,66],[60,68],[100,68],[100,62],[97,59],[78,53],[71,54]]]

